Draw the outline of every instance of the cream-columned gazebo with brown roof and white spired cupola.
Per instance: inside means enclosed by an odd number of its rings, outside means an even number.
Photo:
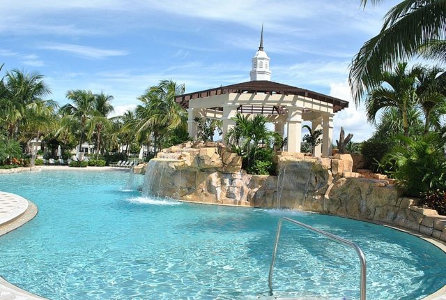
[[[197,137],[197,117],[221,119],[223,137],[235,125],[233,117],[241,114],[263,114],[275,131],[287,128],[289,152],[300,152],[302,121],[311,121],[312,130],[321,129],[322,144],[315,156],[331,156],[333,116],[348,107],[348,102],[315,91],[270,81],[270,58],[263,51],[263,29],[259,51],[252,58],[251,81],[186,93],[176,102],[187,109],[188,133]],[[223,139],[224,140],[224,139]]]

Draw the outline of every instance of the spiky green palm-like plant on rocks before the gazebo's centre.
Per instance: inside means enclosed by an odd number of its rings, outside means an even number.
[[[236,126],[228,130],[224,139],[231,151],[243,156],[245,170],[253,170],[252,164],[263,153],[260,149],[272,149],[275,145],[282,144],[282,135],[268,130],[268,119],[261,114],[248,118],[238,113],[233,120],[236,121]]]

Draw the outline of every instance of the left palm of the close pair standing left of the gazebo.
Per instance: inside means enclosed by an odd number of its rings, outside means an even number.
[[[61,107],[61,112],[65,114],[61,123],[63,127],[73,126],[75,123],[80,125],[79,149],[82,149],[84,137],[89,136],[93,131],[93,111],[95,96],[91,91],[71,90],[67,92],[66,97],[72,101]]]

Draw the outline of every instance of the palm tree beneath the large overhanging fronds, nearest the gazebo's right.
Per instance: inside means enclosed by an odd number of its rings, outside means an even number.
[[[401,113],[404,135],[408,136],[408,111],[417,102],[415,84],[422,71],[420,66],[407,70],[407,63],[398,63],[394,72],[381,73],[377,77],[380,87],[372,89],[366,98],[367,119],[374,123],[380,110],[396,107]]]

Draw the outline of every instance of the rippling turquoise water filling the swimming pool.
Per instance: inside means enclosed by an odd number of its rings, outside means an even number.
[[[144,198],[125,191],[128,177],[0,175],[0,190],[39,207],[0,237],[0,276],[49,299],[268,299],[277,220],[289,216],[362,248],[367,299],[422,299],[446,284],[445,253],[409,234],[315,213]],[[353,250],[284,223],[276,297],[359,299],[359,273]]]

